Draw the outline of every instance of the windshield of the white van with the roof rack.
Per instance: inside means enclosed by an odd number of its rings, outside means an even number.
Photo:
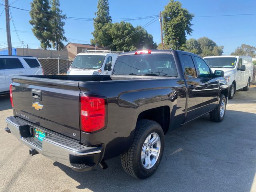
[[[72,62],[71,68],[98,69],[101,68],[105,56],[102,55],[78,55]]]

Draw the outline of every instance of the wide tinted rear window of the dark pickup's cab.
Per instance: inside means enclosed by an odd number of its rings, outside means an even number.
[[[113,74],[178,77],[171,54],[119,56]]]

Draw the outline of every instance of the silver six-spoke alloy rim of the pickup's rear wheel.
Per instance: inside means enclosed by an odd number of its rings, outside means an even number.
[[[141,162],[145,169],[152,168],[158,160],[161,149],[160,137],[157,133],[150,133],[144,141],[141,150]]]

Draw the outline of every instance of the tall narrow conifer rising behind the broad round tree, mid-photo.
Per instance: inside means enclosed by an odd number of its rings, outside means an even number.
[[[108,0],[98,0],[97,12],[95,13],[96,18],[93,19],[94,31],[92,35],[94,39],[91,40],[92,44],[104,45],[105,42],[112,42],[108,32],[104,31],[103,27],[112,22],[111,16],[109,15]]]

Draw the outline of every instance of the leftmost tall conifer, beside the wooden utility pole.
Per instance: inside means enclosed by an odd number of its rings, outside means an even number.
[[[54,40],[51,20],[52,12],[48,0],[33,0],[31,3],[29,23],[33,26],[32,32],[44,49],[51,48],[50,42]]]

